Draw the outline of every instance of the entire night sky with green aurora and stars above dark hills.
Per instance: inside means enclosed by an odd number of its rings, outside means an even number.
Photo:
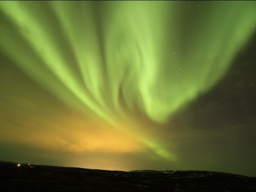
[[[256,1],[0,1],[0,160],[256,177]]]

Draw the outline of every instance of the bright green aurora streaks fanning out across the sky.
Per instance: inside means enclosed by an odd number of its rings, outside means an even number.
[[[177,112],[225,78],[256,31],[256,2],[0,1],[0,22],[0,52],[15,70],[171,164],[175,140],[155,132],[169,134]]]

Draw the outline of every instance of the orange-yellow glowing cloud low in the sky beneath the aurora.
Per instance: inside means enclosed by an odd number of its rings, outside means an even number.
[[[10,117],[9,117],[10,119]],[[143,145],[126,133],[102,121],[85,119],[76,112],[61,112],[47,119],[12,119],[22,126],[4,129],[0,138],[11,138],[42,149],[84,153],[89,151],[127,153],[140,151]],[[41,129],[37,126],[40,125]],[[13,132],[17,134],[13,135]]]

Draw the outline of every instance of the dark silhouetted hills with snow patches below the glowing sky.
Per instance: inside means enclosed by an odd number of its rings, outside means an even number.
[[[211,171],[111,171],[0,161],[0,191],[256,191],[256,177]]]

